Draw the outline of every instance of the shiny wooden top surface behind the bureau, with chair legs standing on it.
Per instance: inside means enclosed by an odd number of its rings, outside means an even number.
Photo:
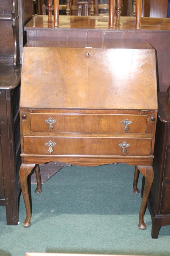
[[[108,27],[108,16],[67,16],[59,15],[59,27],[54,27],[54,16],[48,20],[48,16],[37,15],[25,26],[27,29],[100,29],[100,30],[149,30],[170,31],[170,19],[168,18],[142,18],[141,29],[135,29],[135,17],[120,17],[120,24],[111,29]]]

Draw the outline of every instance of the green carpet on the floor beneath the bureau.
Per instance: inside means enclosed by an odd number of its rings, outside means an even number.
[[[170,226],[151,238],[138,228],[141,195],[133,193],[134,166],[112,164],[63,167],[36,194],[32,184],[31,226],[23,227],[25,207],[20,198],[20,225],[8,226],[0,207],[0,256],[25,252],[170,255]],[[141,189],[142,175],[139,176]]]

